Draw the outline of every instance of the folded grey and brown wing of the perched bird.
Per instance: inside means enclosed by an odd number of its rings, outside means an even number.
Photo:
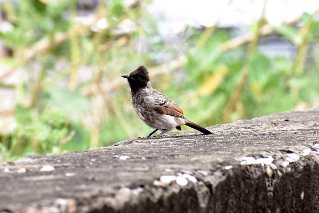
[[[159,91],[154,91],[154,109],[161,114],[184,117],[182,109]]]

